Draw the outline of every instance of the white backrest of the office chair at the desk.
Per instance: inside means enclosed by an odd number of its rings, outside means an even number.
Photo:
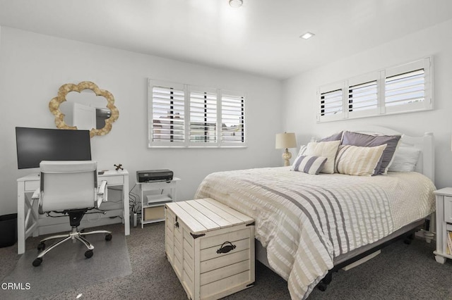
[[[40,213],[95,207],[95,161],[42,161],[40,171]]]

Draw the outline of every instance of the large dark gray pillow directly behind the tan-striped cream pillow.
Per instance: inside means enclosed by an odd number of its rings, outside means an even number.
[[[364,133],[346,131],[343,134],[342,144],[353,146],[374,147],[387,144],[383,151],[379,165],[375,168],[374,175],[386,174],[397,149],[400,135],[364,135]]]

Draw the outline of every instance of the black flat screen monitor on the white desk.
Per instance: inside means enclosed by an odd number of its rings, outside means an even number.
[[[41,161],[90,161],[89,130],[16,127],[19,169],[39,168]]]

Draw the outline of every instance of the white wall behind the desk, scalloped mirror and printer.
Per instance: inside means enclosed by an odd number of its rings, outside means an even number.
[[[248,147],[148,149],[148,77],[246,92]],[[37,172],[18,170],[14,127],[54,127],[50,99],[61,85],[85,80],[111,92],[119,109],[112,131],[91,139],[93,159],[100,169],[122,163],[131,187],[136,170],[169,168],[182,178],[178,198],[191,199],[209,173],[282,163],[274,149],[282,124],[278,80],[1,27],[0,215],[17,211],[16,179]]]

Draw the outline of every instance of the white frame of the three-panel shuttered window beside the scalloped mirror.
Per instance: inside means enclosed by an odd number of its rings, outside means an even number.
[[[154,126],[154,87],[165,87],[166,89],[170,89],[172,87],[178,87],[178,90],[184,91],[184,141],[183,142],[175,142],[175,141],[155,141],[154,135],[155,135],[155,126]],[[203,92],[207,92],[210,94],[216,95],[216,117],[215,117],[215,137],[214,142],[210,140],[210,142],[195,142],[194,140],[191,140],[193,137],[191,129],[193,129],[194,125],[191,122],[191,119],[194,118],[194,115],[199,116],[199,111],[195,112],[194,109],[195,101],[192,103],[192,96],[194,94],[200,95],[203,94]],[[242,99],[242,106],[239,106],[239,109],[241,109],[241,115],[242,118],[239,120],[239,125],[237,127],[242,128],[242,130],[239,130],[241,132],[241,141],[225,141],[222,139],[223,137],[223,131],[222,128],[222,102],[223,102],[223,95],[229,95],[233,97],[237,97],[237,99]],[[194,99],[198,97],[193,97]],[[225,100],[226,101],[226,100]],[[198,106],[199,107],[199,106]],[[210,106],[212,108],[212,106]],[[202,114],[202,112],[201,112]],[[205,122],[206,124],[209,124],[209,126],[212,126],[213,120],[210,118],[210,122],[208,122],[208,112],[205,111],[205,119],[202,122]],[[214,113],[215,114],[215,113]],[[177,82],[167,82],[162,80],[153,80],[148,79],[148,148],[246,148],[246,94],[244,92],[237,92],[237,91],[231,91],[231,90],[224,90],[224,89],[214,89],[211,87],[201,87],[201,86],[195,86],[195,85],[186,85],[186,84],[180,84]],[[212,131],[210,131],[212,132]],[[206,139],[205,139],[206,140]]]

